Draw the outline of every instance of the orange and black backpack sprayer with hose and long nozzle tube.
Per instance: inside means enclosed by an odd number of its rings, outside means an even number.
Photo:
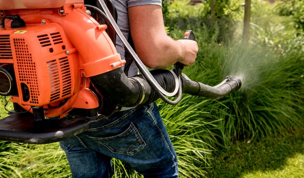
[[[84,0],[0,1],[0,95],[10,96],[14,104],[0,120],[0,140],[57,142],[122,107],[146,105],[159,97],[176,104],[182,93],[217,99],[240,88],[237,77],[226,77],[214,87],[191,81],[181,64],[172,71],[149,71],[119,31],[115,11],[109,11],[111,1],[98,1],[101,8],[84,5]],[[126,61],[115,48],[115,35],[109,35],[113,30],[141,75],[127,77],[122,71]],[[187,31],[185,38],[191,37]],[[177,97],[172,101],[166,96]]]

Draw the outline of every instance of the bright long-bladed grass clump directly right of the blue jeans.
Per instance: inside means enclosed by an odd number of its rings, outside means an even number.
[[[206,173],[214,150],[212,129],[217,127],[217,121],[204,121],[202,115],[205,112],[198,110],[206,100],[193,102],[192,99],[184,96],[177,105],[158,100],[160,114],[177,153],[182,178],[202,178]]]

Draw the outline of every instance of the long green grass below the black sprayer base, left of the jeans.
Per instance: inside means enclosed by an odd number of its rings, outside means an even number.
[[[27,145],[0,142],[0,178],[70,178],[58,143]]]

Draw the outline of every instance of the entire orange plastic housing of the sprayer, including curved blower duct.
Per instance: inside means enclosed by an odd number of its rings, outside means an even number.
[[[0,67],[14,66],[17,94],[12,102],[26,111],[38,107],[47,117],[63,117],[73,108],[97,108],[100,101],[88,88],[89,77],[121,67],[125,60],[105,32],[106,25],[85,13],[83,0],[51,2],[0,1],[2,17],[17,14],[26,24],[12,28],[12,19],[3,22]]]

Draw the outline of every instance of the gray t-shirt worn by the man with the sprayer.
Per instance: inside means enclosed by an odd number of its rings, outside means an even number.
[[[130,34],[128,8],[138,5],[150,5],[150,4],[162,6],[162,1],[161,0],[113,0],[113,4],[116,7],[118,14],[118,19],[117,19],[118,27],[125,36],[125,38],[128,39]],[[125,48],[119,37],[117,37],[116,39],[116,49],[118,53],[120,53],[121,59],[125,59]],[[137,66],[133,62],[132,65],[130,66],[128,76],[134,76],[137,73],[138,73]]]

